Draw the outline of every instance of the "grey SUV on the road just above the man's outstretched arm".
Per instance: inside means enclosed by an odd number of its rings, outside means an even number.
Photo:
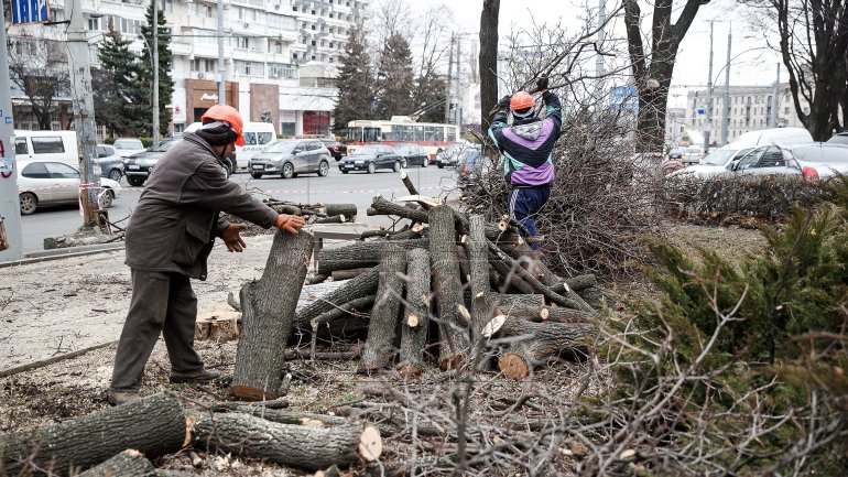
[[[253,178],[263,175],[280,175],[292,178],[297,174],[329,174],[330,153],[316,139],[290,139],[265,145],[248,160],[248,170]]]

